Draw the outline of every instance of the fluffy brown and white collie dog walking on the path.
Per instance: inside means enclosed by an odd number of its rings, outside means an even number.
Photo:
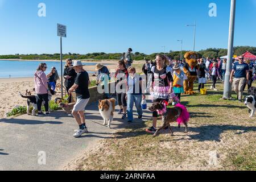
[[[115,102],[117,101],[114,98],[110,98],[109,100],[100,100],[98,102],[98,109],[104,119],[103,125],[105,126],[108,121],[108,127],[110,128],[111,122],[114,118]]]

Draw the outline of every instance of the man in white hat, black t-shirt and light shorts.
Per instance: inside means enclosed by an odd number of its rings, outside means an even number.
[[[88,104],[90,99],[89,93],[89,75],[82,68],[81,61],[75,61],[73,68],[75,69],[77,76],[75,79],[75,84],[68,90],[69,95],[73,91],[76,91],[76,105],[73,108],[72,115],[75,117],[76,122],[79,125],[79,130],[73,135],[73,137],[78,138],[81,137],[82,134],[88,133],[88,129],[85,125],[85,114],[84,109]]]

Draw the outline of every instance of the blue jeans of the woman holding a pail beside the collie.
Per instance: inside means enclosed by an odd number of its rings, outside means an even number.
[[[127,94],[127,116],[128,121],[133,121],[133,105],[135,102],[135,106],[137,108],[138,115],[142,115],[142,107],[141,107],[142,95],[133,95]]]

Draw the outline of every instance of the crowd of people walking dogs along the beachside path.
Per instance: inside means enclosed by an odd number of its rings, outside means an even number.
[[[118,61],[117,68],[114,74],[114,79],[117,82],[115,86],[115,94],[117,97],[118,114],[122,115],[123,120],[127,119],[127,123],[132,123],[134,120],[133,107],[137,108],[138,119],[143,117],[143,109],[141,103],[146,99],[146,94],[150,94],[153,102],[169,102],[176,105],[181,101],[181,94],[184,93],[183,82],[187,76],[183,72],[185,60],[171,60],[165,55],[156,55],[155,61],[146,60],[142,72],[144,77],[139,75],[133,66],[131,59],[131,48]],[[210,89],[216,89],[217,80],[224,81],[227,67],[226,59],[198,60],[197,78],[212,80],[213,84]],[[41,111],[42,102],[46,108],[46,115],[49,115],[48,110],[48,94],[49,90],[55,90],[56,81],[59,80],[56,68],[52,68],[51,72],[46,75],[47,65],[40,64],[35,73],[35,92],[38,95],[38,115],[44,115]],[[97,85],[104,85],[105,98],[110,98],[108,83],[110,80],[110,72],[108,68],[102,64],[96,65]],[[233,82],[233,88],[237,93],[237,98],[242,101],[243,90],[246,85],[250,88],[255,76],[255,63],[248,60],[244,61],[243,57],[239,57],[239,61],[234,61],[233,69],[230,76],[230,82]],[[234,78],[233,78],[234,77]],[[81,61],[73,61],[68,59],[64,69],[65,88],[68,93],[76,92],[76,105],[72,111],[75,117],[79,130],[76,130],[74,137],[80,137],[86,133],[87,127],[85,124],[84,110],[90,99],[89,84],[90,79],[88,73],[84,70]],[[204,84],[199,84],[200,89],[204,88]],[[148,128],[147,133],[155,133],[158,113],[152,113],[152,127]]]

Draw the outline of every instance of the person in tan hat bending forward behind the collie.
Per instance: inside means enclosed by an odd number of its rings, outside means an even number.
[[[106,99],[109,98],[109,90],[108,90],[108,83],[109,83],[109,69],[102,64],[96,64],[96,71],[98,71],[98,77],[96,85],[104,84],[104,92]]]

